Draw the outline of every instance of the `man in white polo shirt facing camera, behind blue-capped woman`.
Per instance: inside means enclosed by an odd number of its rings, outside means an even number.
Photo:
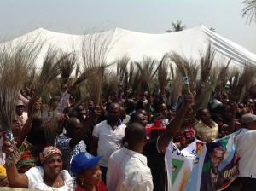
[[[108,108],[108,119],[96,124],[92,132],[90,153],[102,156],[99,164],[103,182],[106,182],[110,155],[123,146],[126,125],[122,124],[119,116],[120,105],[112,103]]]

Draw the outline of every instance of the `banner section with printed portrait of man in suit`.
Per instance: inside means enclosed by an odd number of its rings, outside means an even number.
[[[238,154],[230,137],[207,144],[201,173],[201,191],[222,190],[239,174]]]

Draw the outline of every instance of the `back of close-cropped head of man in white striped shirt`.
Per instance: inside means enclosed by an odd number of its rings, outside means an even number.
[[[143,124],[133,123],[125,128],[125,142],[129,146],[137,146],[145,142],[146,130]]]

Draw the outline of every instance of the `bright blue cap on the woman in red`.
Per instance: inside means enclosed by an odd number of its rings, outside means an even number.
[[[71,171],[74,176],[78,176],[81,171],[96,165],[100,159],[102,159],[102,156],[95,157],[87,152],[78,153],[71,161]]]

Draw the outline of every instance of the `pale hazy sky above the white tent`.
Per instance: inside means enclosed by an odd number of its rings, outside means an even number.
[[[256,53],[256,23],[241,17],[243,0],[0,0],[0,39],[39,27],[83,34],[114,27],[164,33],[181,20],[186,29],[204,25]]]

